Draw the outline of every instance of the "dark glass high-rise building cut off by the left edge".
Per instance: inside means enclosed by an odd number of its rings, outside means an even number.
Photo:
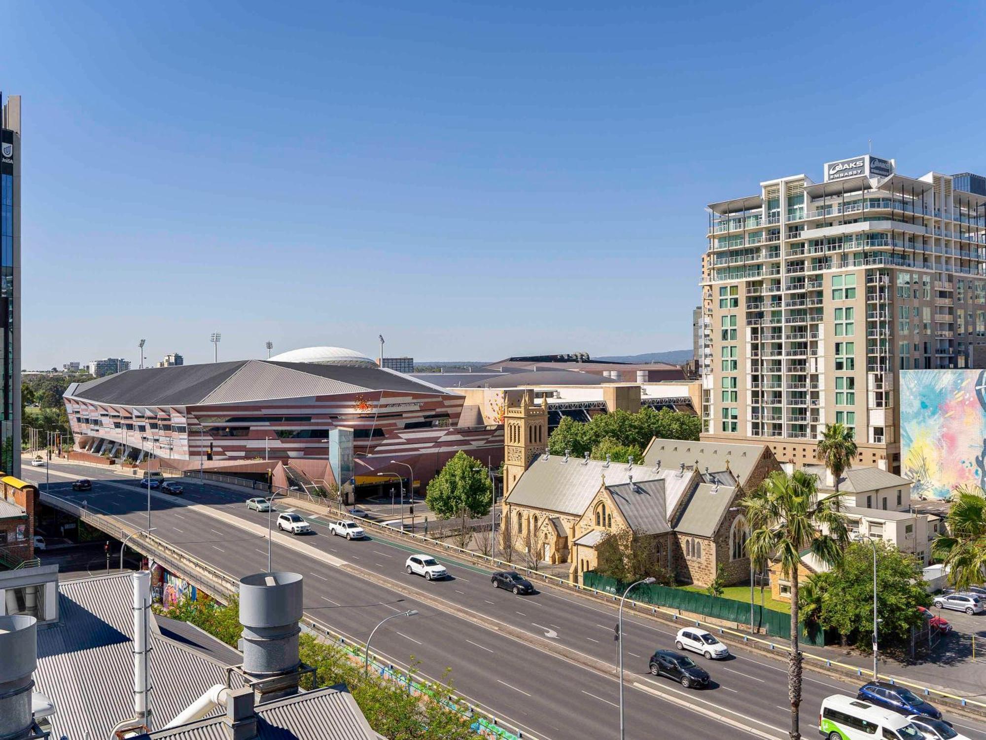
[[[21,96],[0,94],[0,469],[21,475]]]

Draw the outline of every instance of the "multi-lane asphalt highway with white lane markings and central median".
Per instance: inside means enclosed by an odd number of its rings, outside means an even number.
[[[51,493],[86,499],[92,510],[146,526],[147,494],[137,481],[83,466],[58,465],[50,473]],[[26,476],[43,481],[45,474],[31,469]],[[76,478],[92,480],[93,490],[73,493],[70,482]],[[261,528],[267,525],[267,515],[247,511],[246,494],[184,483],[180,497],[155,491],[155,534],[233,576],[265,570],[267,542]],[[585,665],[615,662],[614,609],[550,588],[515,596],[494,589],[487,570],[453,558],[440,558],[450,579],[427,582],[404,572],[404,560],[413,552],[408,545],[382,537],[347,542],[331,537],[317,520],[313,525],[312,535],[284,535],[273,543],[274,568],[306,576],[305,607],[313,618],[363,641],[385,617],[417,609],[419,616],[391,620],[377,632],[375,652],[404,666],[413,656],[431,677],[451,668],[459,692],[528,736],[560,740],[617,734],[616,681]],[[294,547],[296,543],[364,572],[327,564]],[[669,626],[624,616],[628,738],[649,738],[655,732],[720,738],[724,732],[738,731],[786,737],[784,663],[741,648],[727,661],[706,662],[696,656],[713,684],[704,691],[688,691],[648,673],[648,657],[655,649],[673,649],[673,634]],[[838,679],[807,673],[803,733],[815,731],[822,698],[853,694],[854,689]],[[955,724],[974,740],[986,740],[986,725],[964,718]]]

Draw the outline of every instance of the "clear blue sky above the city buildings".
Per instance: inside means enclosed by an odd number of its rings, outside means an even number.
[[[24,366],[689,347],[706,203],[986,174],[986,6],[23,3]]]

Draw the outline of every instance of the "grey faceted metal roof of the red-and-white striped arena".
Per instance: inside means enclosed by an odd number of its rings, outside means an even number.
[[[69,398],[120,406],[196,406],[362,391],[441,394],[445,390],[378,367],[238,360],[126,370],[82,383]]]

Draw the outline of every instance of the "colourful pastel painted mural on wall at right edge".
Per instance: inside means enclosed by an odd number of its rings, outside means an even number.
[[[986,485],[986,371],[902,370],[900,456],[915,495]]]

